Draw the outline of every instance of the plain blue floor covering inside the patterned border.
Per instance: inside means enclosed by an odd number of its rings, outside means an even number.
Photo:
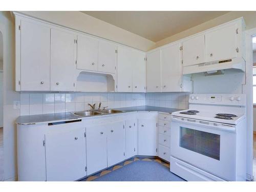
[[[155,161],[134,161],[93,181],[185,181]]]

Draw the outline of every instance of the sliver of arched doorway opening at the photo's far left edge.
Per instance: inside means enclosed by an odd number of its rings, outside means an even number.
[[[3,67],[3,36],[0,32],[0,181],[4,180],[4,109],[3,109],[3,75],[4,75],[4,67]]]

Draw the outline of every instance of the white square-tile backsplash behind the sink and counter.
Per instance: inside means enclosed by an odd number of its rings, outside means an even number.
[[[161,106],[187,109],[186,93],[20,93],[20,115],[38,115],[90,110],[88,103],[101,109],[129,106]]]

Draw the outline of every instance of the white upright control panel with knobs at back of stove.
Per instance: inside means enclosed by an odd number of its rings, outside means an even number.
[[[189,103],[245,106],[245,94],[190,94]]]

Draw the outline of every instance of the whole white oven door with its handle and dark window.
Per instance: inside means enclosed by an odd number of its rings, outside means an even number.
[[[236,163],[235,130],[234,125],[172,117],[170,155],[232,181]]]

